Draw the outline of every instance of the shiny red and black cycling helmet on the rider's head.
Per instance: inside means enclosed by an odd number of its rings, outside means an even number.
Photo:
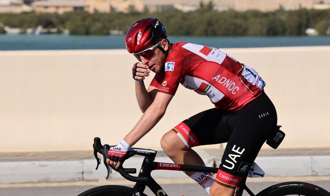
[[[129,53],[138,53],[152,45],[163,36],[167,37],[166,27],[155,17],[137,20],[127,31],[125,44]]]

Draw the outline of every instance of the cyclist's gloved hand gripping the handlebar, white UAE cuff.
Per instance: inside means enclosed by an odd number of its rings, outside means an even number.
[[[127,151],[133,149],[122,140],[117,146],[111,147],[106,155],[107,165],[115,166],[116,169],[120,167],[120,164],[124,161],[123,158]]]

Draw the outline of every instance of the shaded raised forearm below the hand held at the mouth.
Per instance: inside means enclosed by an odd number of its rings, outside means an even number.
[[[138,106],[142,113],[144,113],[146,109],[151,105],[153,99],[145,89],[143,80],[141,82],[135,82],[135,95]]]

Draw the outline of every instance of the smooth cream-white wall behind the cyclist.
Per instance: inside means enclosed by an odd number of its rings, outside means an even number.
[[[330,46],[223,51],[266,81],[286,133],[281,148],[330,147]],[[95,136],[117,144],[141,116],[134,62],[126,50],[0,51],[0,152],[91,150]],[[211,107],[206,96],[180,86],[135,147],[160,149],[162,134]]]

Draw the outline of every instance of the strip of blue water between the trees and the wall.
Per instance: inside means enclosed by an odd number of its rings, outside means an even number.
[[[173,43],[184,41],[217,48],[330,45],[327,37],[192,37],[169,36]],[[123,35],[0,35],[0,50],[123,49]]]

